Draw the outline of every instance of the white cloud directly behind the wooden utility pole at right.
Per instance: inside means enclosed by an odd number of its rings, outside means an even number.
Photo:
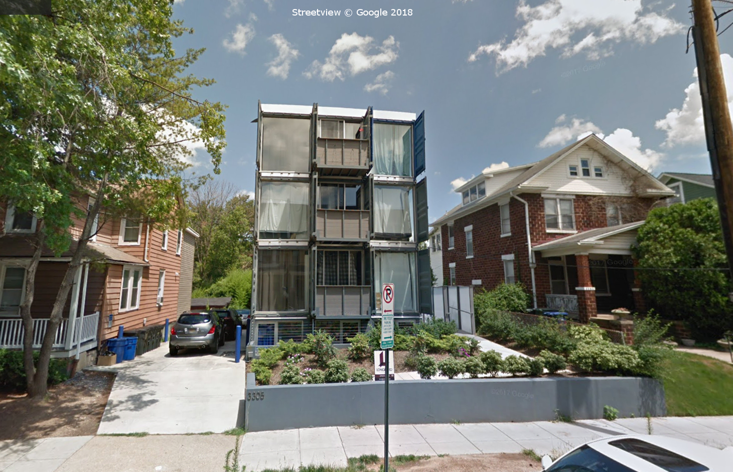
[[[723,77],[728,91],[728,107],[733,110],[733,57],[721,54]],[[681,108],[672,108],[663,119],[658,120],[655,126],[663,130],[667,138],[663,147],[674,147],[684,144],[701,144],[705,141],[705,125],[702,118],[702,100],[700,85],[697,78],[697,68],[693,72],[695,81],[685,89],[685,101]]]

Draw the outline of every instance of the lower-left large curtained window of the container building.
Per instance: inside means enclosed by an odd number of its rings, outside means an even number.
[[[259,251],[257,261],[258,308],[262,311],[307,309],[309,279],[307,251]]]

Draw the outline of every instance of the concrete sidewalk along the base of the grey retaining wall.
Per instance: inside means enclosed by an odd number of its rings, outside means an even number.
[[[532,449],[558,456],[589,440],[613,435],[646,435],[647,418],[573,423],[414,424],[389,428],[390,455],[493,454]],[[652,434],[722,448],[733,446],[733,416],[652,418]],[[384,427],[329,427],[249,432],[240,449],[240,465],[262,471],[300,465],[343,466],[348,457],[384,454]]]

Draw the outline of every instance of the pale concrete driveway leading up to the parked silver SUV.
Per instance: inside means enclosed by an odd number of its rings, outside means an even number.
[[[117,372],[97,434],[147,432],[156,435],[224,432],[237,426],[244,399],[245,363],[235,363],[235,343],[217,355],[185,350],[168,353],[168,343],[100,370]]]

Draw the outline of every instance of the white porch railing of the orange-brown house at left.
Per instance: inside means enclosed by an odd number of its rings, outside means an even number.
[[[71,339],[71,345],[89,342],[97,339],[97,326],[99,325],[99,311],[77,318],[75,323],[75,336]],[[48,327],[48,318],[37,318],[33,320],[33,348],[40,349]],[[54,348],[66,346],[69,335],[69,320],[63,318],[56,328],[54,337]],[[23,347],[23,320],[20,318],[0,319],[0,348],[21,349]]]

